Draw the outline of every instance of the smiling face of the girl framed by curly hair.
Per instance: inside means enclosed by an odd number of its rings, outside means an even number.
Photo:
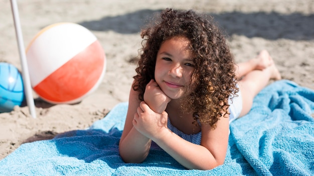
[[[172,37],[162,43],[157,53],[155,81],[172,99],[179,99],[192,91],[190,83],[195,66],[189,44],[186,37]]]

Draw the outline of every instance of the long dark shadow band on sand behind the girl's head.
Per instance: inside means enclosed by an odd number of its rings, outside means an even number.
[[[160,10],[142,9],[118,16],[106,16],[97,20],[82,21],[79,24],[90,30],[132,34],[140,31],[147,21]],[[266,39],[314,39],[314,14],[280,14],[277,12],[225,12],[207,13],[214,16],[228,35],[237,34],[247,37]],[[134,25],[137,24],[137,25]]]

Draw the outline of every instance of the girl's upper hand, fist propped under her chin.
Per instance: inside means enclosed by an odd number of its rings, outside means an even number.
[[[170,100],[171,98],[163,92],[155,80],[151,79],[147,83],[144,92],[144,101],[153,111],[162,113],[165,111]]]

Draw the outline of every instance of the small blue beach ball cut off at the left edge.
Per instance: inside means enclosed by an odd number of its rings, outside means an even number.
[[[0,112],[12,111],[25,100],[23,79],[17,67],[0,62]]]

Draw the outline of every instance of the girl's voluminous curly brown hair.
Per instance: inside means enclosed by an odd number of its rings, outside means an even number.
[[[212,16],[194,10],[163,10],[153,24],[141,31],[142,52],[132,88],[143,100],[146,84],[154,79],[158,50],[165,40],[174,36],[187,37],[195,55],[191,77],[195,89],[182,101],[181,108],[193,112],[195,125],[207,123],[215,128],[222,112],[228,113],[229,96],[234,96],[238,88],[234,58]]]

